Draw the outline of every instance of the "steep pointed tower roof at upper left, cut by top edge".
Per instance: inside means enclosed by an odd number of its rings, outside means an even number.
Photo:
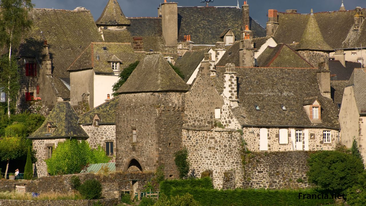
[[[109,0],[102,15],[96,21],[97,25],[130,25],[130,20],[124,16],[117,0]]]

